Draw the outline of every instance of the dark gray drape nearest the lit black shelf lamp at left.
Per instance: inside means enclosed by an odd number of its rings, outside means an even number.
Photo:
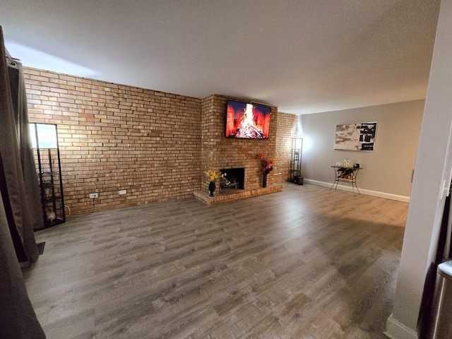
[[[8,67],[3,42],[0,49],[0,189],[18,260],[26,264],[37,259],[33,229],[43,227],[43,217],[30,147],[22,67],[19,63]]]

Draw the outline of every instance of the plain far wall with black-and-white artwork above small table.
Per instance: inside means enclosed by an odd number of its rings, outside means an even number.
[[[416,100],[300,116],[300,133],[304,137],[302,175],[332,184],[331,165],[349,158],[363,167],[357,176],[359,189],[408,199],[423,110],[424,100]],[[374,152],[334,150],[336,125],[374,121]]]

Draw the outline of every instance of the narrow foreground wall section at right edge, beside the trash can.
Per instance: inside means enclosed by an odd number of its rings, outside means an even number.
[[[442,0],[393,314],[386,324],[391,338],[417,338],[424,281],[435,258],[452,168],[451,53],[452,1]]]

